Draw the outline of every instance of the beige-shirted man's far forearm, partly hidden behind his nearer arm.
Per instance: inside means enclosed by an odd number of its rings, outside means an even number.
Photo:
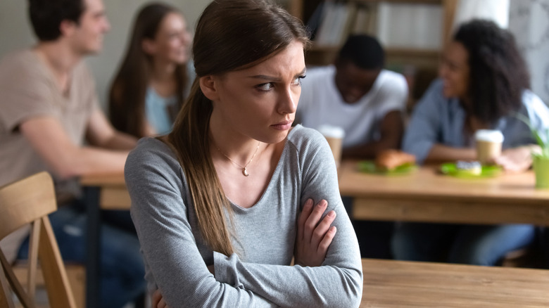
[[[92,146],[111,150],[131,150],[137,143],[134,136],[115,130],[99,109],[89,117],[86,139]]]

